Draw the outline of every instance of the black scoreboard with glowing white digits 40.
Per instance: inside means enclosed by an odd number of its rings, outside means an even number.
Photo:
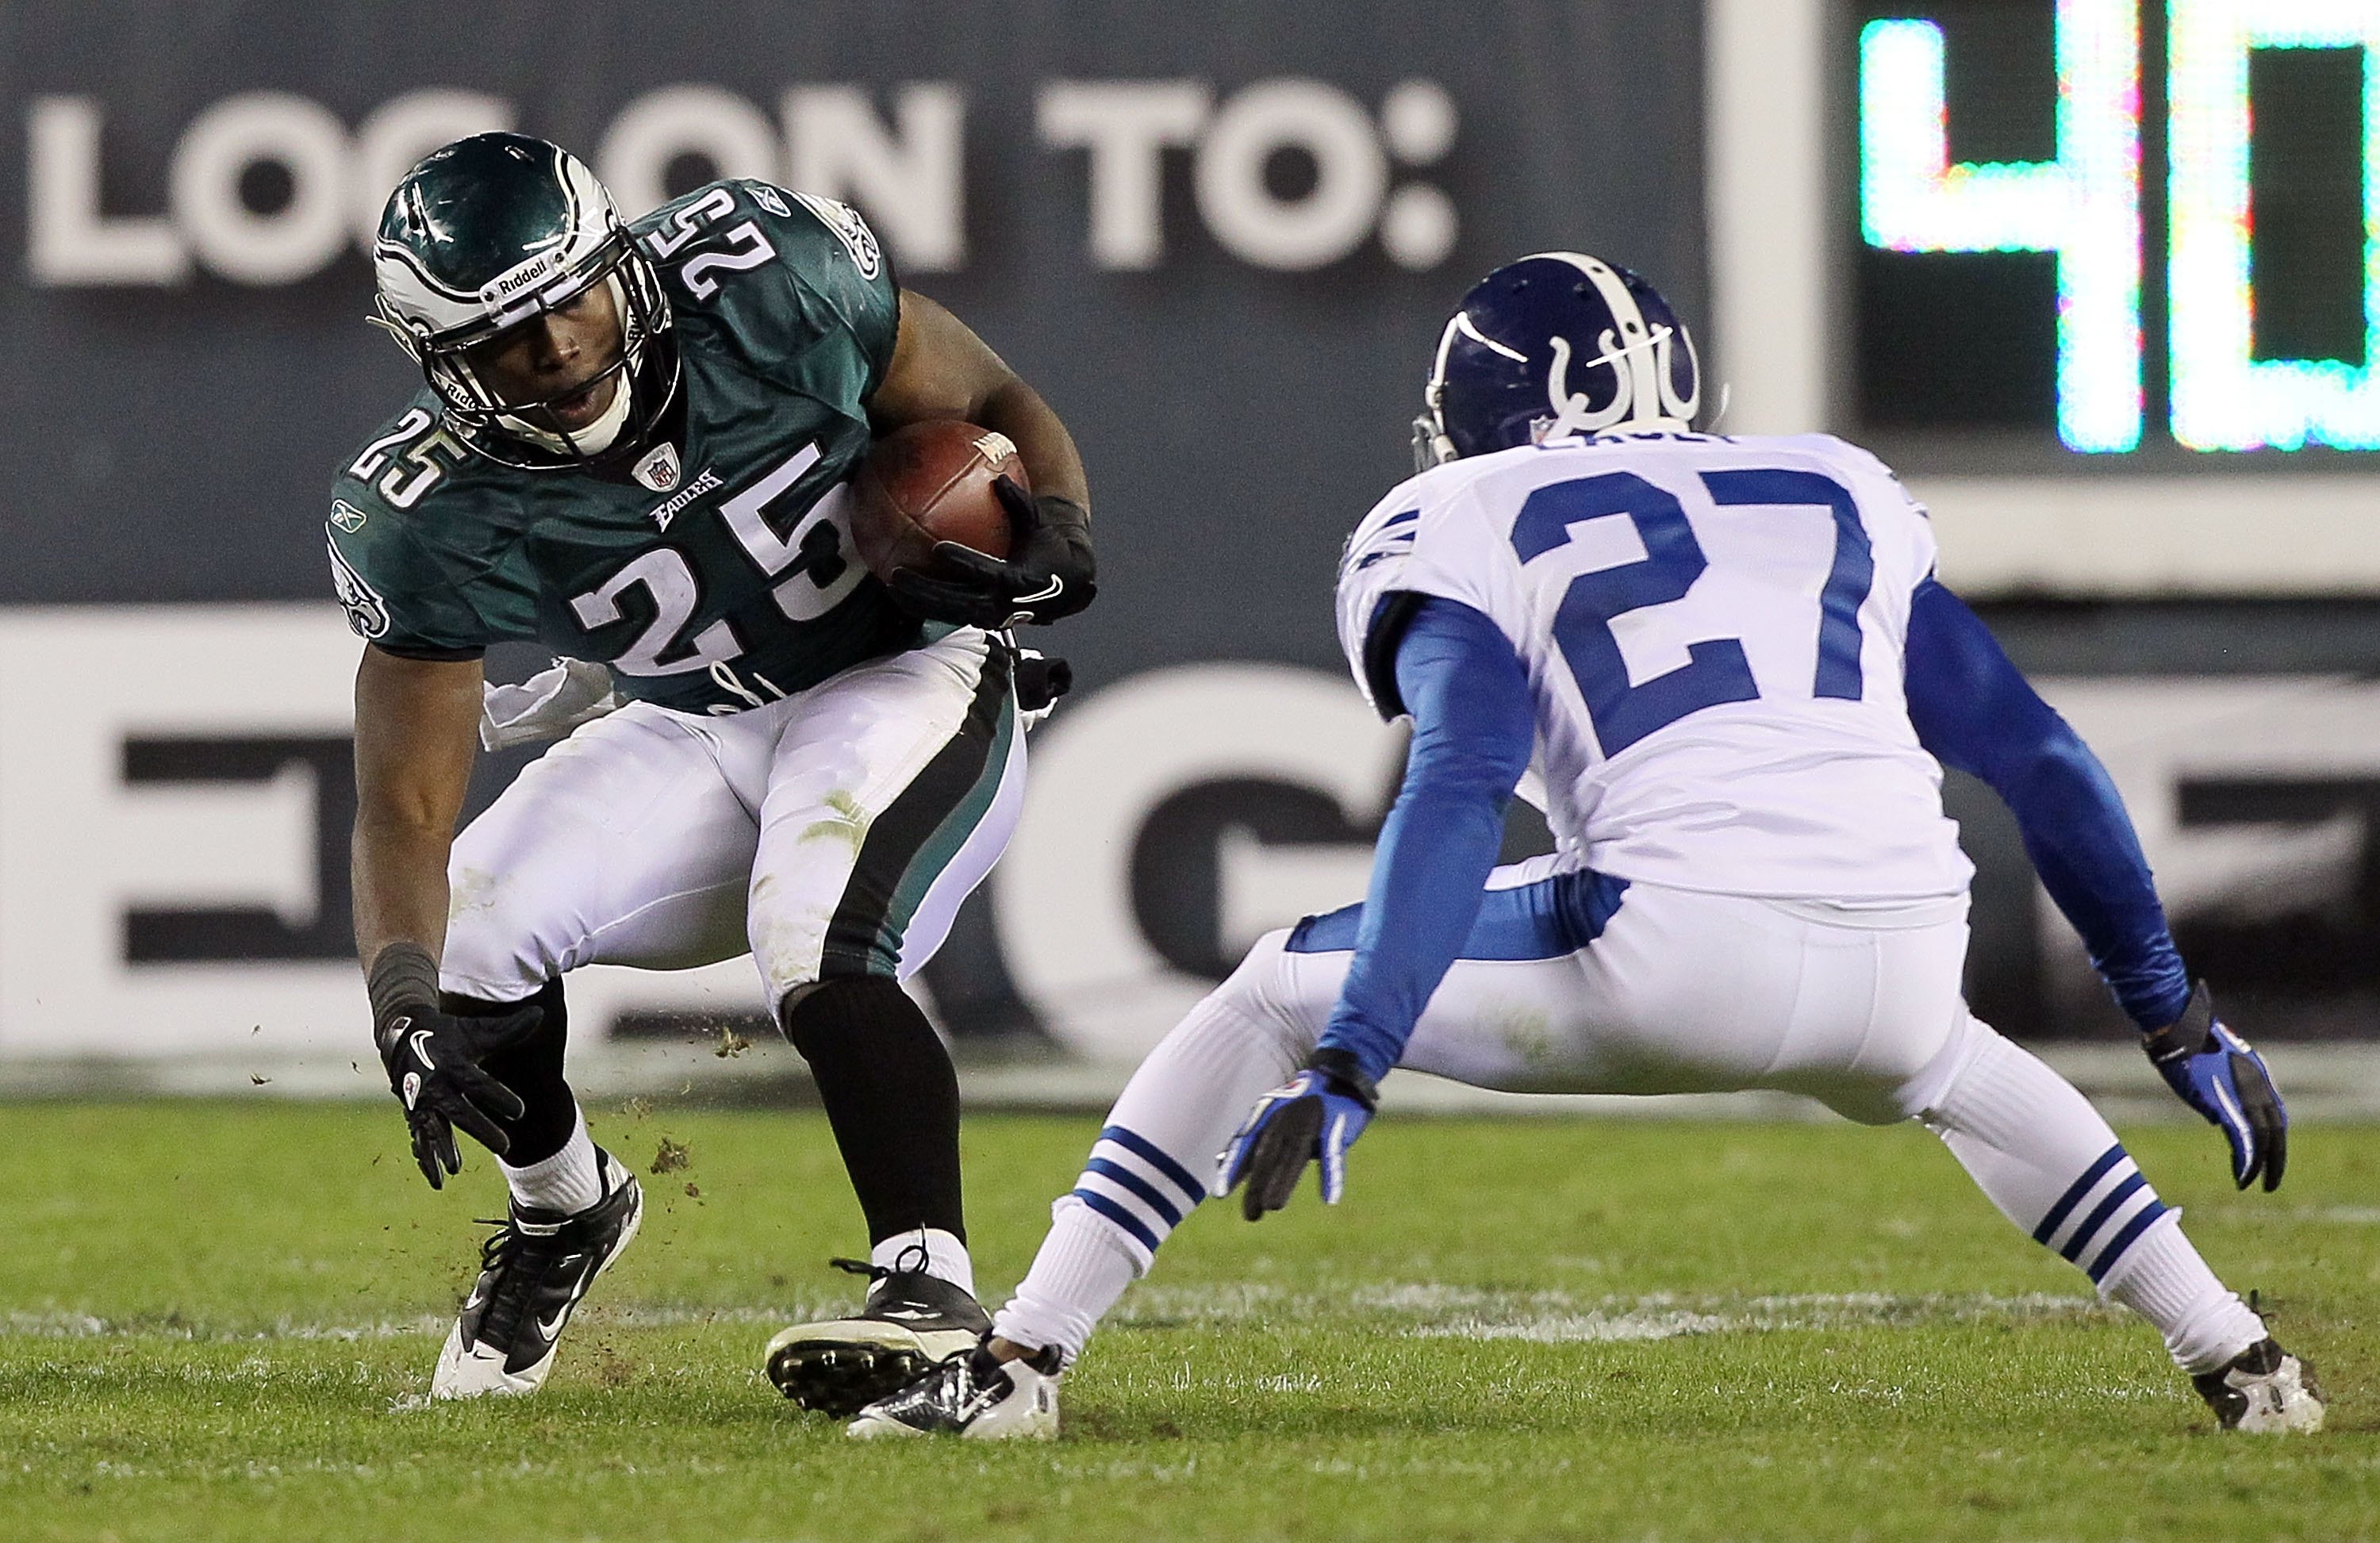
[[[1840,36],[1854,433],[2380,452],[2380,0],[1854,0]]]

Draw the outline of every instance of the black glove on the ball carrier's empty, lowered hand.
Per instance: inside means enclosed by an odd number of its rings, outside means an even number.
[[[481,1062],[536,1033],[545,1010],[486,1019],[440,1012],[438,967],[412,943],[390,943],[371,962],[371,1041],[388,1067],[388,1091],[405,1105],[414,1162],[431,1188],[445,1188],[445,1174],[462,1172],[455,1126],[497,1157],[509,1152],[512,1138],[497,1122],[519,1119],[526,1105]]]

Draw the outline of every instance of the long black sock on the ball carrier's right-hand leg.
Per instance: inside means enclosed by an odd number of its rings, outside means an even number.
[[[959,1205],[959,1074],[900,981],[826,981],[785,1010],[852,1176],[869,1243],[919,1226],[966,1241]]]

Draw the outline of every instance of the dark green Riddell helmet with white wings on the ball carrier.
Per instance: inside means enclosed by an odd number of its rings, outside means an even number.
[[[405,174],[371,245],[371,319],[445,402],[457,438],[521,469],[569,469],[645,445],[678,391],[669,298],[612,195],[559,145],[474,133]],[[471,350],[597,283],[621,319],[609,407],[576,431],[545,400],[505,400]],[[574,386],[578,395],[588,383]]]

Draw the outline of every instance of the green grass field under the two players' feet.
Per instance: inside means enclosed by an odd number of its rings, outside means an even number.
[[[1066,1383],[1057,1445],[859,1445],[762,1381],[852,1295],[814,1114],[600,1110],[635,1250],[536,1400],[426,1407],[495,1214],[381,1107],[0,1105],[0,1538],[2380,1536],[2380,1129],[2232,1195],[2128,1131],[2323,1372],[2332,1429],[2218,1436],[1916,1129],[1383,1122],[1349,1200],[1209,1207]],[[1092,1119],[966,1129],[990,1288]]]

